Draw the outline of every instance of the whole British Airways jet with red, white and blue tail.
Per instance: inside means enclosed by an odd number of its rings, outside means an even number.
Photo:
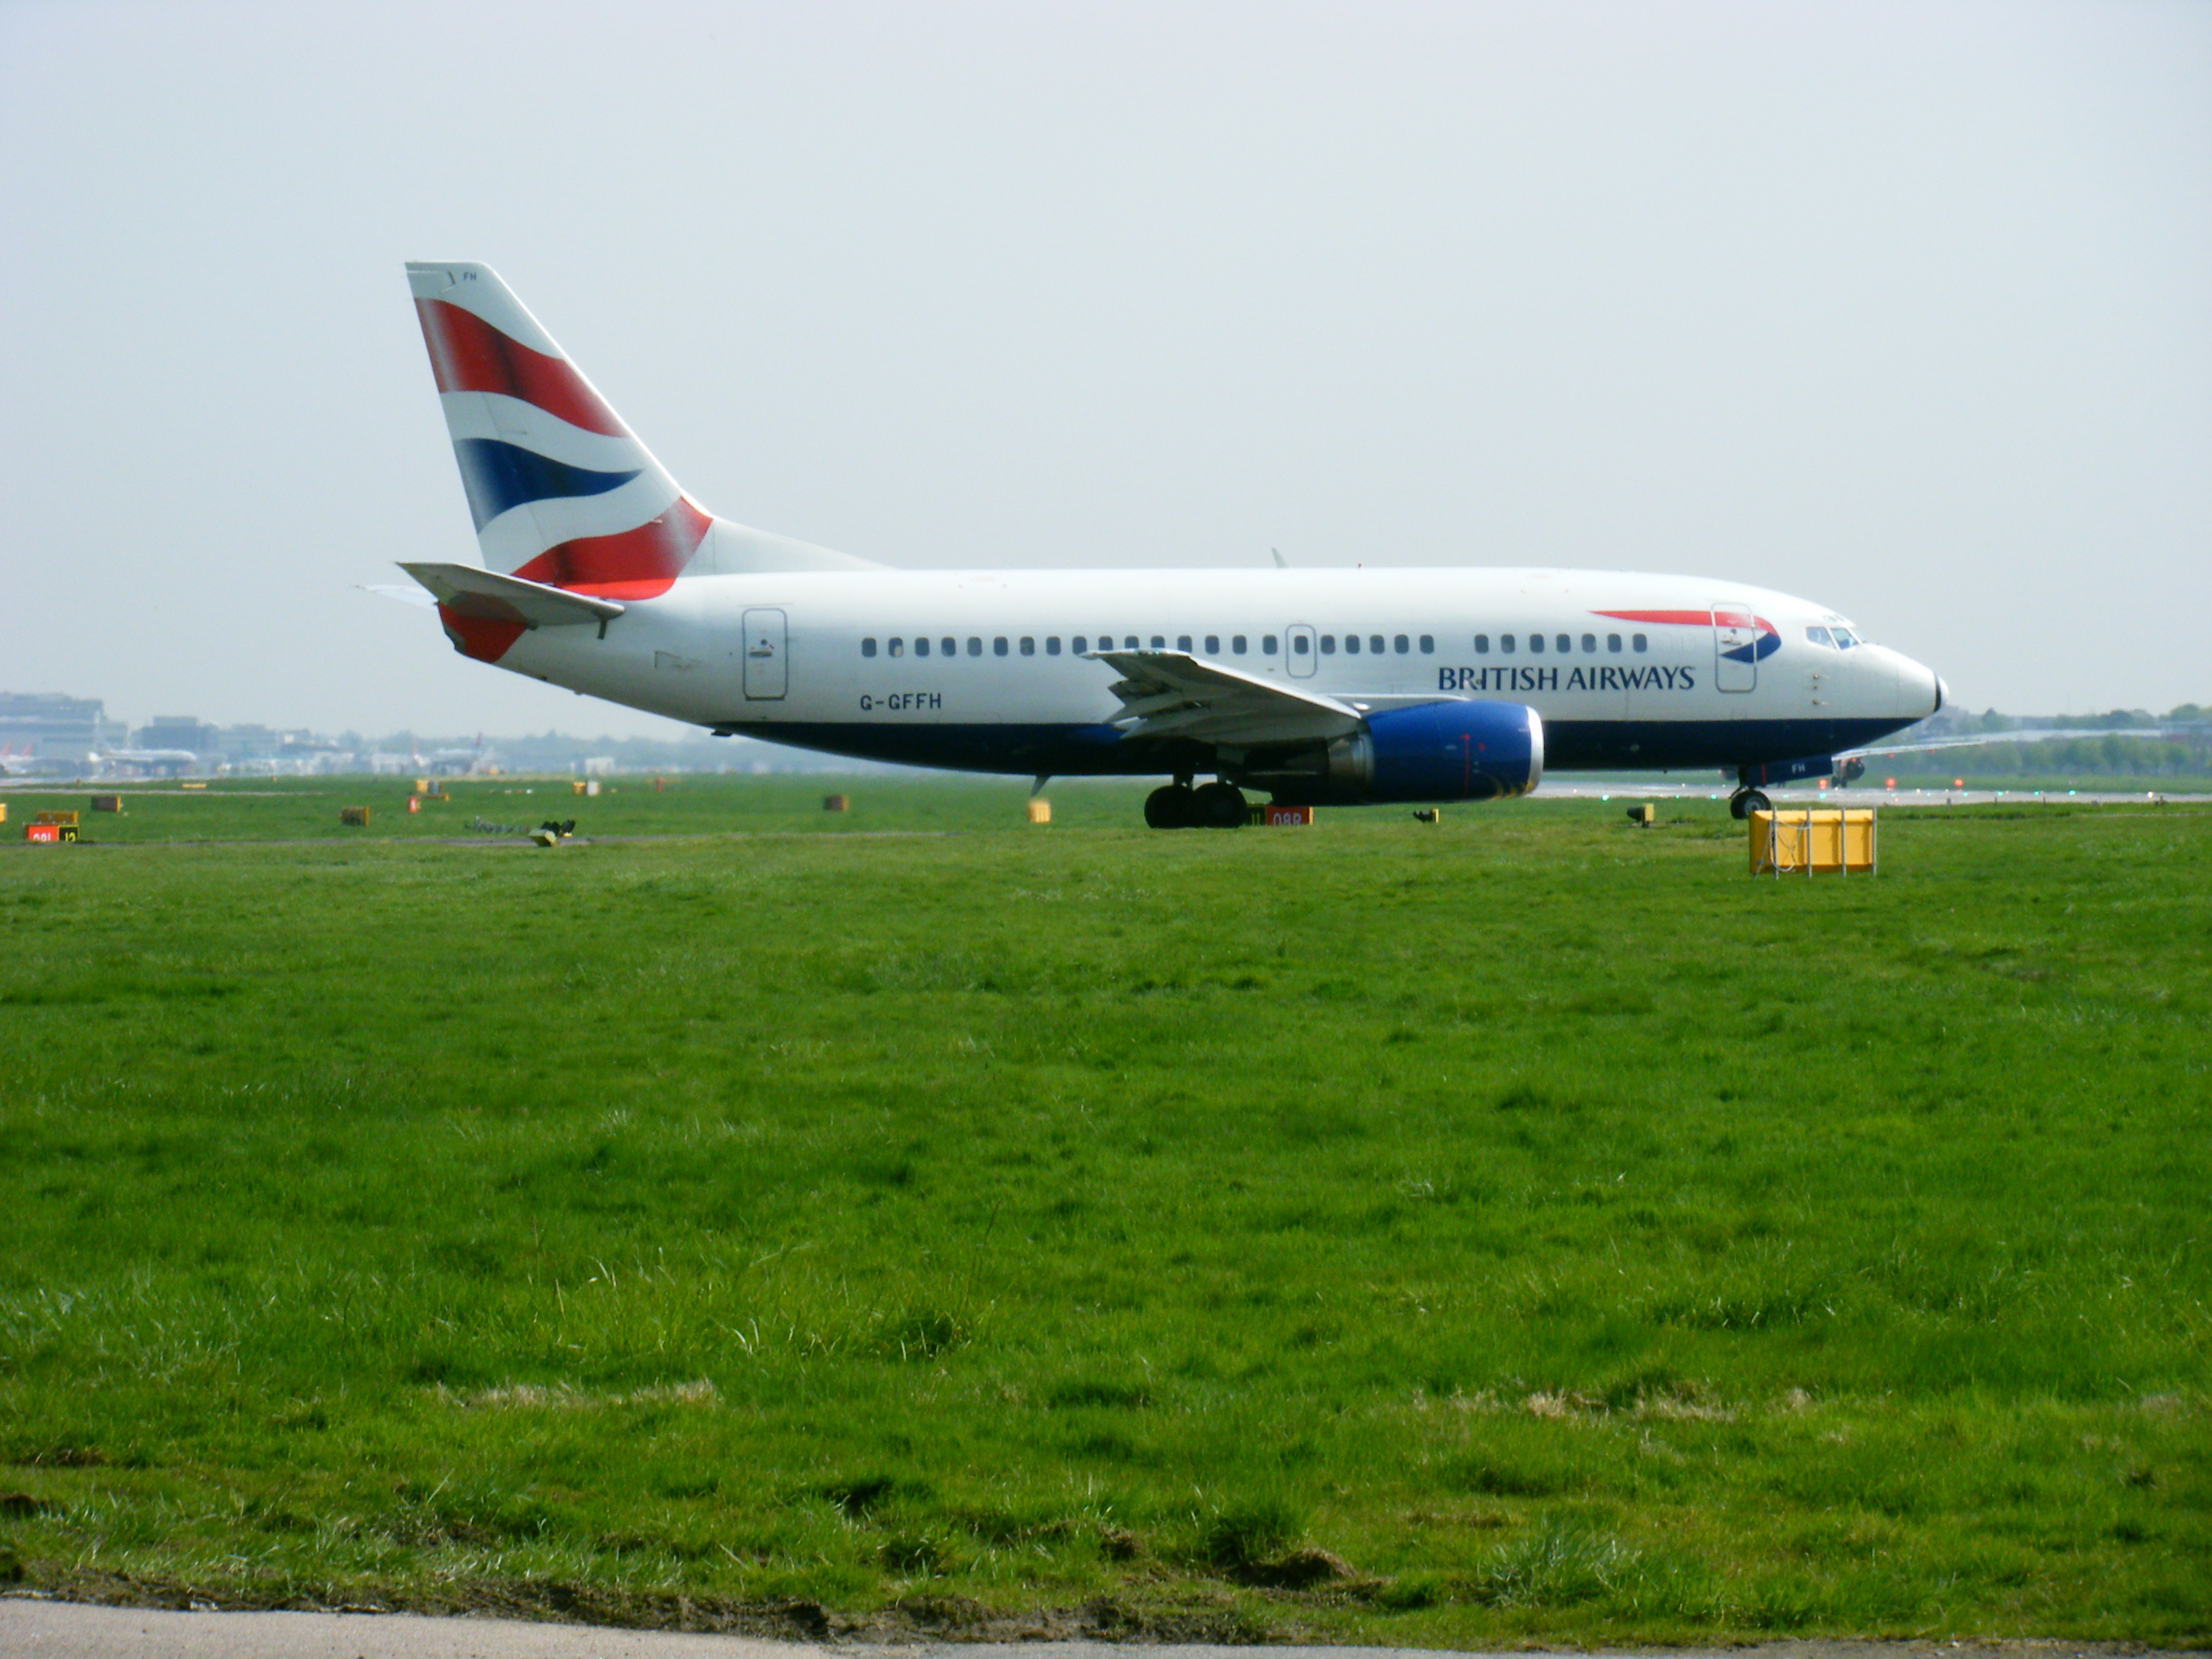
[[[830,754],[1166,776],[1146,823],[1498,801],[1573,770],[1827,776],[1942,681],[1809,599],[1624,571],[891,571],[714,518],[487,265],[407,265],[482,564],[456,650]],[[418,595],[420,597],[420,595]],[[1199,783],[1199,779],[1210,779]]]

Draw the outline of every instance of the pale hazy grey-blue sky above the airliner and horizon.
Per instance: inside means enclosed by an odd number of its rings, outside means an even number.
[[[675,734],[476,562],[400,263],[916,568],[1756,582],[2212,701],[2212,7],[0,0],[0,690]]]

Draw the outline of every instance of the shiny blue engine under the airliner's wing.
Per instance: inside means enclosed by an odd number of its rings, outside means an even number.
[[[1526,703],[1440,701],[1369,714],[1358,732],[1239,781],[1287,805],[1504,801],[1544,776],[1544,719]]]

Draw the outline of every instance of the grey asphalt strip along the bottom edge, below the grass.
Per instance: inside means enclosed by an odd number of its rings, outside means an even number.
[[[7,1659],[834,1659],[849,1657],[854,1648],[878,1648],[900,1659],[1128,1659],[1128,1646],[812,1644],[405,1613],[173,1613],[0,1597],[0,1655]],[[1157,1646],[1144,1652],[1146,1659],[1252,1659],[1250,1648]],[[1462,1659],[1433,1648],[1270,1646],[1267,1652],[1283,1659]],[[1683,1659],[1683,1652],[1613,1650],[1615,1659]],[[1770,1641],[1725,1652],[1730,1659],[2130,1659],[2150,1650],[2095,1641]],[[2179,1650],[2170,1652],[2179,1659]],[[1526,1650],[1464,1659],[1526,1659]],[[2199,1650],[2190,1659],[2212,1655]]]

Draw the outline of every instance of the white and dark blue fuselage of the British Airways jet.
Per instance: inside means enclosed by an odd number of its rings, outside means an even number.
[[[535,628],[498,661],[841,754],[1164,772],[1113,741],[1091,653],[1183,650],[1363,710],[1526,703],[1573,770],[1829,754],[1938,708],[1929,668],[1854,633],[1770,588],[1615,571],[794,571],[688,575],[604,637]]]

